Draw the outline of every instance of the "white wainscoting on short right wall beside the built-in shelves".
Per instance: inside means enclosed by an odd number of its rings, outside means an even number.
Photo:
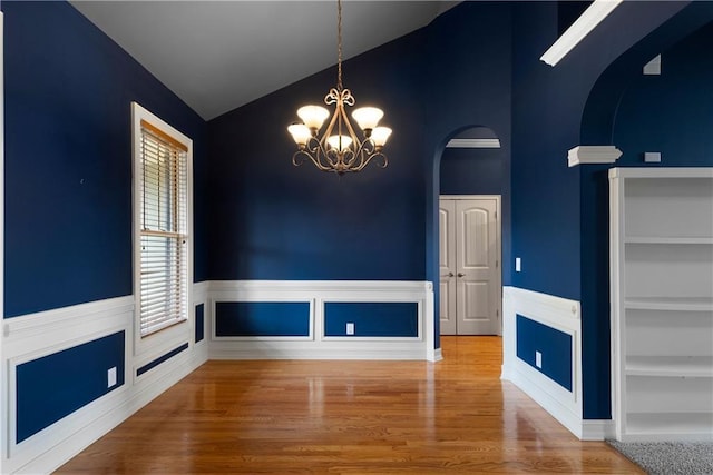
[[[602,441],[609,435],[612,422],[583,419],[580,311],[576,300],[504,287],[502,379],[522,389],[580,439]],[[517,315],[572,337],[572,392],[517,357]]]

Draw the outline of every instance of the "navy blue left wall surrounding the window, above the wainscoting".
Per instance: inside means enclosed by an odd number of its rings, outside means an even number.
[[[131,101],[194,140],[205,279],[206,123],[69,3],[2,10],[4,316],[133,293]]]

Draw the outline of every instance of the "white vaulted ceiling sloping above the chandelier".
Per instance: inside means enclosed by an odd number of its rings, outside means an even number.
[[[342,1],[344,59],[459,1]],[[336,63],[336,1],[71,0],[204,119]]]

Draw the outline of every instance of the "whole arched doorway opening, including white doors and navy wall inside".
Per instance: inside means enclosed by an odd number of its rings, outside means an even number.
[[[446,144],[439,178],[441,335],[500,335],[502,328],[500,139],[488,127]]]

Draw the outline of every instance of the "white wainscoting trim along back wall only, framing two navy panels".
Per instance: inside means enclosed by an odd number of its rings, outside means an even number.
[[[436,362],[433,286],[429,281],[392,280],[232,280],[212,281],[211,344],[212,359],[426,359]],[[310,331],[304,336],[261,334],[258,336],[216,335],[216,304],[222,303],[309,303]],[[325,335],[328,303],[389,304],[413,303],[414,336]],[[304,308],[304,307],[302,307]],[[302,318],[302,316],[297,316]],[[282,315],[280,318],[289,318]],[[296,317],[295,317],[296,318]],[[280,321],[271,321],[279,326]]]

